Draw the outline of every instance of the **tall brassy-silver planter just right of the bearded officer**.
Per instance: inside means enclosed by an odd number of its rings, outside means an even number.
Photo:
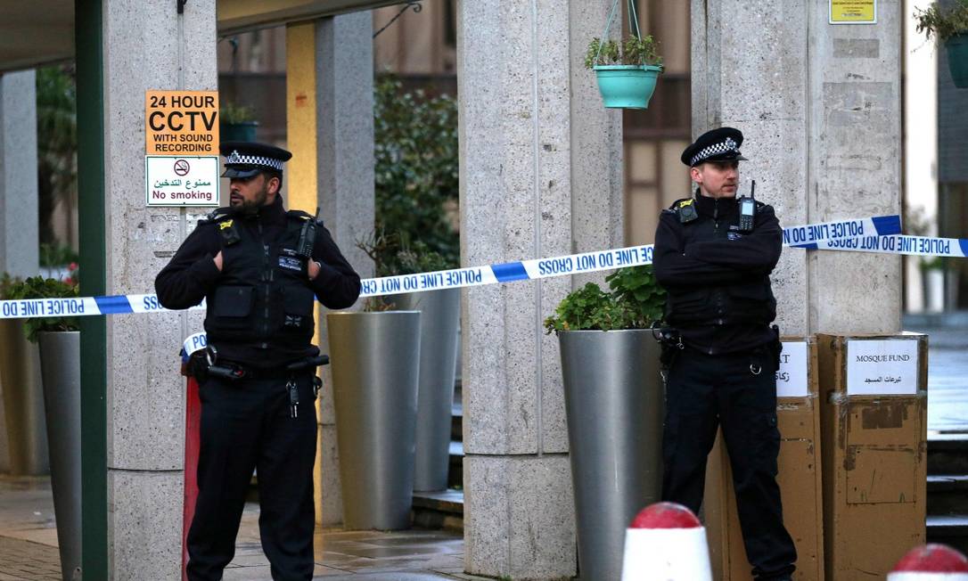
[[[346,529],[407,529],[420,313],[326,315]]]

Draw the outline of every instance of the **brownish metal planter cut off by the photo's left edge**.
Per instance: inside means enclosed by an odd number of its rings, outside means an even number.
[[[23,335],[23,320],[0,321],[0,385],[10,472],[40,475],[50,471],[37,346]]]

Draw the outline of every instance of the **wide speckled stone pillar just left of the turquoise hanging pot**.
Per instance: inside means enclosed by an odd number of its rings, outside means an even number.
[[[621,243],[620,114],[601,106],[582,64],[610,4],[460,3],[463,265]],[[571,288],[554,278],[465,291],[470,573],[575,574],[559,350],[542,327]]]

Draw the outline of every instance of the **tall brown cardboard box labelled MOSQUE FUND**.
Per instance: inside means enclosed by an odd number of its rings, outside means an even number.
[[[817,335],[828,579],[884,579],[924,543],[927,336]]]

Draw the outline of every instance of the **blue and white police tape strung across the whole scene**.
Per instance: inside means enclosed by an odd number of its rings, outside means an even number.
[[[965,257],[968,240],[907,236],[899,216],[839,220],[783,229],[783,245],[807,250],[846,250],[888,254]],[[585,274],[652,261],[652,245],[629,246],[548,259],[389,276],[361,281],[360,297],[438,291],[498,283]],[[205,303],[192,307],[201,310]],[[70,298],[0,300],[0,319],[84,317],[167,311],[155,294],[116,294]]]

